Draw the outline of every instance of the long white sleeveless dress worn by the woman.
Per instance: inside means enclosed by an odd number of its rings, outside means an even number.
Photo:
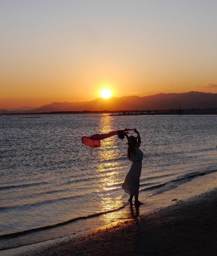
[[[139,194],[139,178],[141,176],[143,151],[136,148],[136,154],[130,153],[130,160],[132,161],[129,173],[127,173],[122,188],[126,193],[138,196]]]

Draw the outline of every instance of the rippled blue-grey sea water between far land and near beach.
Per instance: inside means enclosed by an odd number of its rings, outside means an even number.
[[[81,136],[137,128],[144,152],[141,197],[157,185],[217,169],[217,116],[0,116],[0,235],[117,209],[130,168],[126,141],[110,137],[101,148]],[[168,186],[173,189],[173,186]]]

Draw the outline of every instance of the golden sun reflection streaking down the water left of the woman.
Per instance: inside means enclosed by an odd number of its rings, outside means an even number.
[[[113,117],[104,115],[101,117],[99,124],[99,132],[107,133],[114,130]],[[116,161],[120,157],[118,150],[118,137],[112,136],[106,138],[99,148],[99,164],[97,167],[97,175],[99,176],[100,190],[106,193],[100,193],[100,209],[101,211],[110,211],[125,206],[123,210],[113,211],[101,215],[101,220],[105,224],[113,221],[124,220],[125,218],[137,218],[138,209],[131,208],[126,202],[123,202],[123,194],[117,196],[117,189],[120,188],[120,168]]]

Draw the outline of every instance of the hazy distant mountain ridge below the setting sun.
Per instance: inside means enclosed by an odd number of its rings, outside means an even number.
[[[7,111],[0,109],[0,113],[42,113],[60,111],[122,111],[147,109],[189,109],[189,108],[217,108],[217,94],[188,92],[155,94],[150,96],[123,96],[110,99],[95,99],[85,102],[53,102],[38,108]]]

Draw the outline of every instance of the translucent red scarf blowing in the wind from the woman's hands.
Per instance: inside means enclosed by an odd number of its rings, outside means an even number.
[[[94,134],[91,137],[86,137],[83,136],[81,137],[82,140],[82,144],[90,147],[90,148],[99,148],[100,147],[100,140],[101,139],[105,139],[114,135],[118,135],[119,131],[132,131],[135,129],[124,129],[124,130],[117,130],[117,131],[112,131],[112,132],[108,132],[108,133],[103,133],[103,134]]]

